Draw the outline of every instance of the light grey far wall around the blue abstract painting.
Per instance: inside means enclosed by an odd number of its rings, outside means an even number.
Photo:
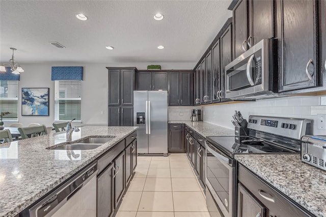
[[[55,82],[51,81],[52,66],[83,66],[82,82],[82,125],[107,125],[107,69],[105,67],[137,67],[147,69],[147,65],[158,64],[162,69],[193,69],[196,63],[48,63],[21,64],[24,72],[20,74],[18,89],[18,121],[24,126],[40,123],[51,126],[54,120]],[[21,116],[21,88],[50,88],[49,116]],[[104,114],[101,114],[103,111]],[[5,122],[9,126],[10,122]]]

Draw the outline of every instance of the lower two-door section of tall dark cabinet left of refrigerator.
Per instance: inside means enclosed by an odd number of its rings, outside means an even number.
[[[108,126],[133,126],[133,107],[108,107]]]

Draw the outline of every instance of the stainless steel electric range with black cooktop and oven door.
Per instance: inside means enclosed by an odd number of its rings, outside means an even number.
[[[301,137],[311,120],[249,116],[248,135],[207,137],[206,195],[211,194],[224,216],[236,215],[235,154],[300,153]],[[211,201],[206,201],[210,210]],[[210,204],[210,207],[208,207]],[[213,209],[216,212],[216,208]]]

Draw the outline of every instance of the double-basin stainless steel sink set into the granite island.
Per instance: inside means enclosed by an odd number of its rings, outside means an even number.
[[[115,138],[115,136],[110,137],[90,137],[84,140],[80,140],[75,143],[65,144],[57,147],[47,147],[46,149],[53,149],[53,150],[90,150],[95,149],[111,141]]]

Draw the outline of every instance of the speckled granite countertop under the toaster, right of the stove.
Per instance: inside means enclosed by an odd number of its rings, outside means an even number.
[[[235,159],[316,216],[326,216],[326,172],[300,154],[238,154]]]

